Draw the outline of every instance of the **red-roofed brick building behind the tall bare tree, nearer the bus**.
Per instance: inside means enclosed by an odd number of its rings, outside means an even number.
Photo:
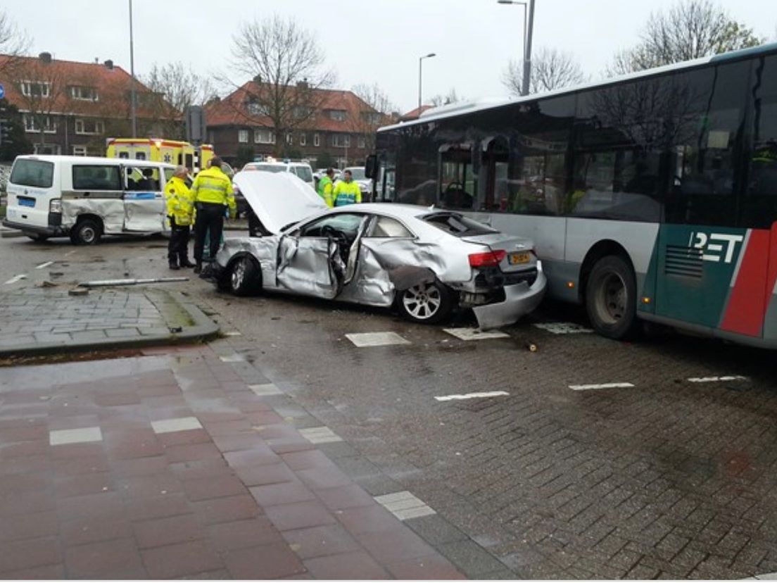
[[[300,87],[300,86],[298,86]],[[294,92],[297,88],[288,88]],[[308,89],[307,106],[297,106],[304,119],[279,135],[267,115],[267,102],[255,99],[263,86],[247,82],[224,99],[206,106],[207,141],[225,160],[242,163],[274,155],[307,159],[314,168],[328,163],[361,166],[375,145],[375,130],[386,117],[351,91]],[[307,113],[305,113],[307,111]]]

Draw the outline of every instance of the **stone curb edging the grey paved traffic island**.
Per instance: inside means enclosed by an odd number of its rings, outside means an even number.
[[[193,344],[200,340],[211,340],[218,336],[220,326],[207,317],[197,305],[181,292],[166,292],[194,321],[181,332],[157,334],[141,338],[106,338],[106,340],[82,340],[68,344],[33,343],[0,348],[0,358],[43,356],[46,354],[69,354],[74,352],[108,351],[119,348],[141,348],[170,344]]]

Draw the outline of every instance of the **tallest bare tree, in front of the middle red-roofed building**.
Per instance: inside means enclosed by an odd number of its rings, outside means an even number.
[[[247,122],[273,127],[277,153],[285,134],[313,120],[334,79],[324,71],[324,53],[312,33],[294,19],[274,15],[243,23],[233,37],[235,69],[254,83],[244,86],[242,103],[232,106]]]

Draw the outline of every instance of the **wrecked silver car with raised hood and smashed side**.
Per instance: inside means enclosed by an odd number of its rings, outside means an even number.
[[[396,305],[420,323],[472,308],[489,330],[531,312],[545,292],[530,241],[458,212],[405,204],[329,209],[287,173],[239,173],[235,185],[261,233],[227,239],[216,257],[210,277],[235,295],[270,290]]]

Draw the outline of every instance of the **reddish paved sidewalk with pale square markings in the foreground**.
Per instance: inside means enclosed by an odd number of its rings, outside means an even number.
[[[147,353],[3,369],[0,578],[462,578],[255,369]]]

